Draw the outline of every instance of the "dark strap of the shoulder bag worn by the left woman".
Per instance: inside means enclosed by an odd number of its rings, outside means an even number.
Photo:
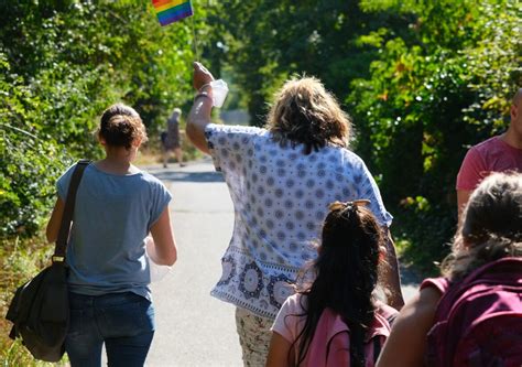
[[[69,187],[67,190],[67,198],[65,201],[64,214],[62,215],[62,223],[59,225],[58,239],[54,248],[53,263],[65,262],[65,253],[67,249],[67,241],[70,230],[70,220],[73,220],[74,207],[76,204],[76,192],[78,191],[79,182],[84,175],[84,171],[90,163],[89,160],[79,160],[73,172]]]

